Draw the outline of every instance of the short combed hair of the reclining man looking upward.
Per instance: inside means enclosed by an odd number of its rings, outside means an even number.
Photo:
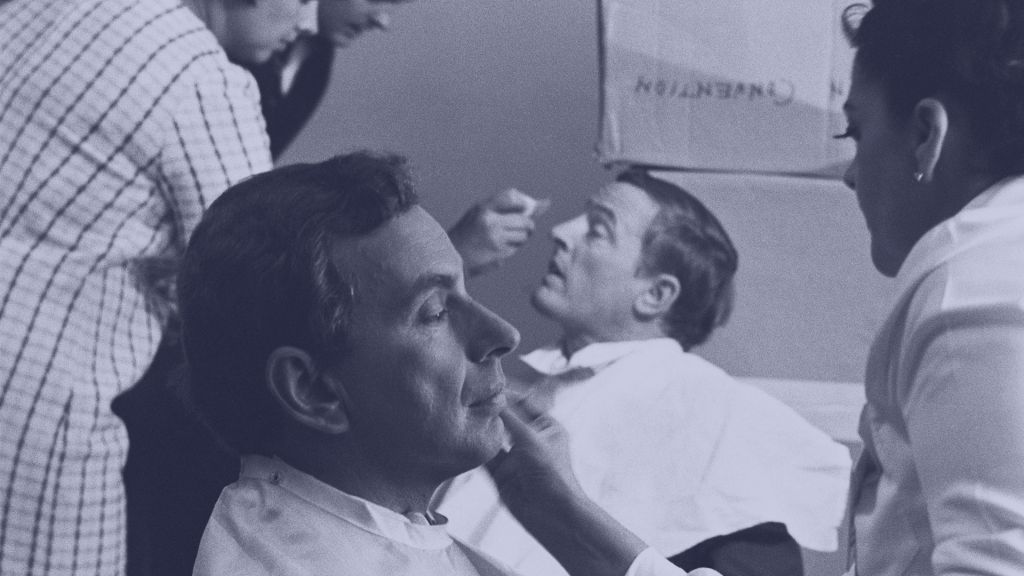
[[[646,192],[659,207],[644,234],[638,272],[679,280],[679,297],[662,322],[668,336],[690,349],[729,319],[736,249],[718,218],[685,190],[641,169],[615,180]]]

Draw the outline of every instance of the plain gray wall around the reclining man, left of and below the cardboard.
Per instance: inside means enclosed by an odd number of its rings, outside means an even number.
[[[420,0],[393,30],[339,54],[330,93],[285,162],[354,148],[407,155],[445,225],[475,199],[514,186],[554,200],[519,256],[470,290],[511,320],[528,351],[554,327],[527,296],[547,231],[610,174],[594,154],[594,0]],[[740,252],[732,322],[701,351],[740,376],[858,381],[890,282],[868,259],[852,193],[837,182],[673,175],[722,218]]]

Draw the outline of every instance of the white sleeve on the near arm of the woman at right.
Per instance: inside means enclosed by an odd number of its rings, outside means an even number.
[[[1024,566],[1024,311],[939,315],[916,338],[903,407],[936,576]]]

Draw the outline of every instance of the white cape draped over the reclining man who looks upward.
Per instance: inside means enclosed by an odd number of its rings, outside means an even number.
[[[835,549],[849,451],[781,402],[670,338],[558,348],[523,358],[550,376],[584,491],[658,553],[781,522],[802,545]],[[474,470],[440,511],[450,531],[529,575],[564,574]]]

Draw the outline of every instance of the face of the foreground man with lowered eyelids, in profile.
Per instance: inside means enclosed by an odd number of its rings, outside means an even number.
[[[466,293],[440,224],[414,207],[368,237],[337,241],[334,261],[356,296],[351,343],[330,370],[367,457],[441,479],[492,458],[504,440],[499,359],[519,335]]]

